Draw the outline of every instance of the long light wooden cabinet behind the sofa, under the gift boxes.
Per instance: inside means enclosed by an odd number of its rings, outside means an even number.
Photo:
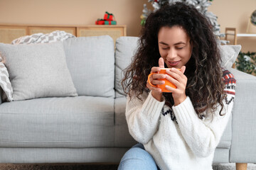
[[[54,30],[64,30],[76,37],[110,35],[114,42],[121,36],[126,36],[126,26],[31,26],[31,25],[1,25],[0,42],[11,43],[16,38],[35,33],[51,33]]]

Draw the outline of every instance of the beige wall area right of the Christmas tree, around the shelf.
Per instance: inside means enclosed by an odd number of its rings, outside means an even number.
[[[218,16],[221,33],[225,28],[236,28],[238,33],[246,33],[247,23],[253,11],[256,10],[255,0],[213,0],[208,11]],[[250,26],[252,33],[256,33],[256,26]],[[256,52],[256,37],[238,37],[238,44],[242,45],[242,52]]]

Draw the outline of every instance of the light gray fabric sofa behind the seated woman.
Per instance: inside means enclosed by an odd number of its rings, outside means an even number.
[[[65,56],[78,96],[34,98],[0,105],[1,163],[119,163],[137,142],[124,112],[122,70],[137,50],[135,37],[65,40]],[[256,163],[256,77],[237,80],[235,105],[215,150],[214,164]]]

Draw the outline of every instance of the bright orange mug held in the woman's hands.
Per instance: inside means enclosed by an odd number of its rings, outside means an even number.
[[[167,73],[166,73],[166,69],[170,69],[170,68],[161,68],[159,74],[167,74]],[[181,70],[181,69],[178,69],[178,70]],[[172,84],[168,79],[159,79],[160,81],[165,81],[164,84],[157,84],[157,85],[151,84],[151,82],[150,82],[150,77],[151,77],[153,74],[156,74],[156,73],[151,73],[151,74],[149,74],[149,76],[148,76],[148,81],[149,81],[149,84],[150,84],[151,86],[158,87],[158,88],[161,89],[162,92],[167,92],[167,93],[170,93],[171,91],[167,90],[165,86],[170,86],[170,87],[172,87],[172,88],[174,88],[174,89],[177,88],[177,87],[176,87],[174,84]]]

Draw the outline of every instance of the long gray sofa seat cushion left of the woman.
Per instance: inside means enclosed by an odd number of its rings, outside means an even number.
[[[36,98],[0,105],[0,147],[113,146],[113,98]]]

